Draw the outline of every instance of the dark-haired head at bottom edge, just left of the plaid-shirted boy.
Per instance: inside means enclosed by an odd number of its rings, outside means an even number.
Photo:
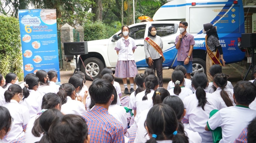
[[[77,115],[64,115],[59,122],[51,125],[48,134],[54,143],[90,143],[86,122]]]

